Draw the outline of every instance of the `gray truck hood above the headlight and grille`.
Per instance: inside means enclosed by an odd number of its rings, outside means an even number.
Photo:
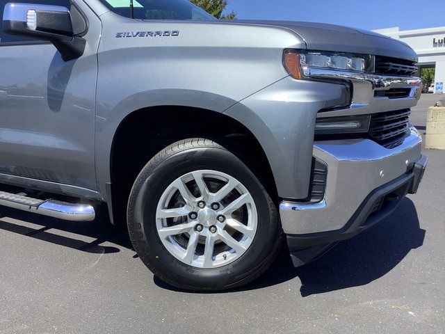
[[[289,29],[300,35],[310,50],[373,54],[417,61],[416,53],[407,44],[372,31],[311,22],[236,20],[234,23]]]

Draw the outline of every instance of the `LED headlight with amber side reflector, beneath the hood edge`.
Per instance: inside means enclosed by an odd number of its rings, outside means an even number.
[[[295,79],[303,79],[311,68],[350,72],[372,72],[373,56],[339,52],[284,51],[284,67]]]

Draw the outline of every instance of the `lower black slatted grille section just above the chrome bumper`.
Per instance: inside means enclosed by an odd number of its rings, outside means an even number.
[[[394,148],[403,141],[408,131],[410,113],[410,109],[403,109],[373,114],[369,136],[385,148]]]

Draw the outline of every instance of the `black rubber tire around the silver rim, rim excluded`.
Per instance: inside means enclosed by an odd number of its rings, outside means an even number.
[[[162,193],[181,175],[194,170],[218,170],[235,177],[252,195],[257,207],[257,233],[236,261],[225,267],[191,267],[170,254],[156,230],[156,207]],[[187,139],[165,148],[143,168],[129,196],[127,222],[140,260],[158,278],[187,290],[216,291],[245,285],[263,273],[282,244],[277,208],[264,186],[234,154],[213,141]]]

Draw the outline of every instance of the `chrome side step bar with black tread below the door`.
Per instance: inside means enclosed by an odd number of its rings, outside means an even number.
[[[93,221],[96,216],[94,207],[88,204],[38,200],[24,196],[22,193],[6,193],[5,191],[0,191],[0,205],[67,221]]]

